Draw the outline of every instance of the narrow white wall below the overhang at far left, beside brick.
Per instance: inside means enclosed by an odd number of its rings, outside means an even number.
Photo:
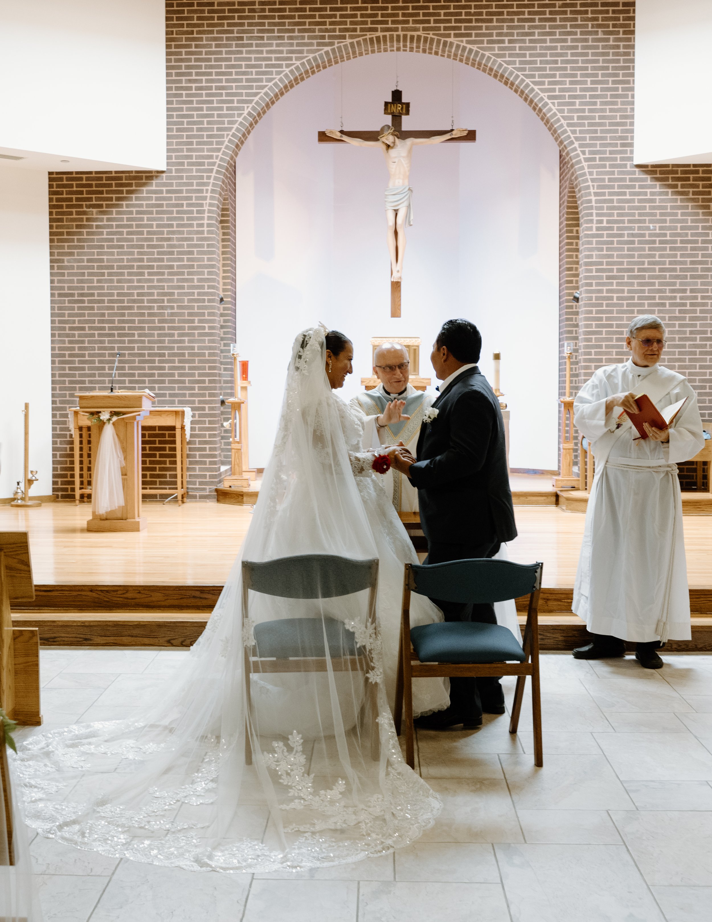
[[[0,168],[0,498],[24,477],[26,401],[30,497],[52,493],[48,227],[47,173]]]

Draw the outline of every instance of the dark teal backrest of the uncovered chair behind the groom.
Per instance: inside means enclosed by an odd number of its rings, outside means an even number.
[[[541,563],[491,558],[412,564],[408,588],[444,602],[505,602],[541,588]]]

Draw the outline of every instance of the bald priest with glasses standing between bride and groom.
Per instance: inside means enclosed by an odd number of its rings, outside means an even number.
[[[355,396],[351,405],[368,417],[364,431],[364,448],[379,450],[381,445],[402,442],[415,455],[423,415],[433,405],[436,395],[416,391],[408,384],[408,352],[401,343],[383,343],[373,356],[373,373],[378,387]],[[407,477],[391,470],[381,479],[391,496],[396,512],[414,513],[418,509],[418,491]]]

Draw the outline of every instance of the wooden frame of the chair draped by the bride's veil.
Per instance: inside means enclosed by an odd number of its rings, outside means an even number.
[[[245,627],[248,618],[248,593],[252,588],[250,561],[242,561],[242,635],[244,636]],[[372,625],[378,632],[378,623],[376,621],[376,597],[379,589],[379,561],[371,561],[370,584],[368,586],[368,612],[367,622]],[[275,657],[257,656],[257,648],[253,644],[251,647],[244,646],[244,681],[245,695],[247,701],[247,715],[245,716],[245,764],[252,764],[252,744],[251,744],[251,688],[250,676],[253,673],[270,673],[270,672],[353,672],[359,669],[366,675],[373,668],[373,664],[367,651],[361,656],[339,656],[326,657],[315,656],[312,658],[305,656],[291,656],[289,659],[277,659]],[[374,682],[367,680],[367,702],[366,708],[373,717],[374,727],[378,727],[376,718],[379,714],[378,709],[378,689]],[[371,758],[378,762],[380,758],[380,741],[378,731],[374,732],[371,737]]]

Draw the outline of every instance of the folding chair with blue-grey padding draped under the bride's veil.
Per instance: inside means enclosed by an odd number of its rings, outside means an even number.
[[[281,598],[335,598],[368,589],[368,623],[376,627],[379,561],[352,561],[333,554],[299,554],[274,561],[242,561],[242,627],[248,618],[249,592]],[[250,739],[251,674],[268,672],[349,672],[365,676],[372,668],[368,652],[356,644],[356,635],[343,621],[315,609],[314,618],[284,618],[255,624],[254,644],[245,646],[245,687],[248,712],[245,727],[245,762],[252,763]],[[326,634],[326,645],[324,644]],[[326,655],[328,646],[329,656]],[[367,680],[367,707],[378,716],[376,686]],[[378,730],[371,736],[371,756],[379,759]]]

